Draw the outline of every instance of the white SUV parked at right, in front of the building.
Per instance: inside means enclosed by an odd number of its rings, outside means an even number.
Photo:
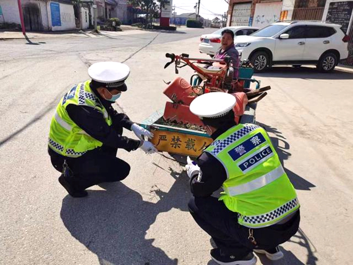
[[[291,21],[238,36],[234,42],[241,59],[249,59],[255,72],[273,65],[316,65],[321,72],[329,72],[348,57],[348,40],[341,25]]]

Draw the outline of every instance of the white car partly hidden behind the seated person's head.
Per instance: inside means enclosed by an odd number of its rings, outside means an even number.
[[[242,35],[250,35],[259,30],[259,28],[255,27],[225,27],[216,30],[212,34],[204,34],[200,38],[199,50],[203,54],[208,54],[213,57],[216,54],[216,51],[220,48],[221,38],[222,38],[222,31],[225,29],[230,29],[234,32],[234,37],[242,36]]]

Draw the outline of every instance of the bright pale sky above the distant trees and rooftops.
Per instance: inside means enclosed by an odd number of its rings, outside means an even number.
[[[195,12],[198,0],[173,0],[177,14]],[[201,0],[200,15],[203,18],[213,19],[217,14],[223,14],[228,10],[228,4],[224,0]],[[220,16],[218,16],[220,18]]]

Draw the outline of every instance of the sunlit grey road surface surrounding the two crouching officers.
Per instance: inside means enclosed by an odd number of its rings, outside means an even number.
[[[130,176],[74,199],[46,151],[56,104],[88,79],[88,65],[130,66],[129,90],[115,107],[141,122],[164,107],[163,80],[175,77],[172,67],[163,70],[165,52],[200,56],[198,36],[211,31],[0,41],[0,264],[214,265],[209,236],[188,213],[188,178],[173,157],[120,150]],[[180,70],[187,80],[192,73]],[[281,246],[285,257],[260,255],[258,264],[351,264],[353,73],[275,67],[256,78],[272,87],[257,122],[302,205],[300,231]]]

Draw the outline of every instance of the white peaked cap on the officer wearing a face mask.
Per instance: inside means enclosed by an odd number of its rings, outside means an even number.
[[[129,66],[117,62],[99,62],[88,68],[88,75],[92,80],[103,83],[106,87],[117,88],[122,91],[126,91],[125,80],[129,74]],[[120,89],[120,86],[124,88]]]

